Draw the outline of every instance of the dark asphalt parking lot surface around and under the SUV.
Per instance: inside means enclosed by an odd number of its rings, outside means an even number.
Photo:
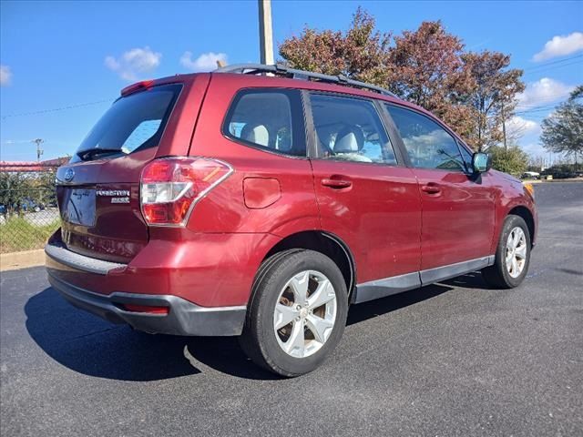
[[[527,279],[478,273],[353,307],[322,368],[280,380],[236,339],[150,336],[2,273],[3,435],[583,435],[583,183],[536,188]]]

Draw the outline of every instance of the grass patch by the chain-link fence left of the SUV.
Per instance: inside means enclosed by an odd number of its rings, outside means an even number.
[[[60,220],[35,225],[23,217],[11,217],[0,224],[0,253],[42,249],[46,240],[60,226]]]

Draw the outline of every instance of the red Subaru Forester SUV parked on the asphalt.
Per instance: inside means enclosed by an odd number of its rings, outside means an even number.
[[[57,172],[52,286],[152,333],[239,336],[312,371],[348,306],[525,278],[532,188],[383,88],[282,66],[128,86]]]

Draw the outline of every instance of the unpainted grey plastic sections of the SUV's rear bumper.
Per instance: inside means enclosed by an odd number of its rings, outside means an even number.
[[[245,322],[246,307],[201,307],[178,296],[165,294],[141,294],[114,291],[100,294],[67,282],[59,275],[60,269],[75,269],[77,272],[106,275],[108,269],[124,265],[107,266],[103,261],[90,259],[69,250],[47,246],[48,280],[52,287],[77,308],[87,310],[114,323],[128,323],[136,330],[150,333],[197,336],[240,335]],[[103,277],[102,277],[103,278]],[[128,311],[124,304],[168,307],[168,314]]]

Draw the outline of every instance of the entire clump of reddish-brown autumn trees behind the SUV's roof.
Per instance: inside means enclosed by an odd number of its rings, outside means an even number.
[[[502,120],[524,90],[522,71],[507,68],[510,56],[465,53],[440,21],[391,35],[359,7],[346,32],[306,26],[281,44],[280,55],[292,67],[384,86],[433,112],[476,149],[497,144]]]

